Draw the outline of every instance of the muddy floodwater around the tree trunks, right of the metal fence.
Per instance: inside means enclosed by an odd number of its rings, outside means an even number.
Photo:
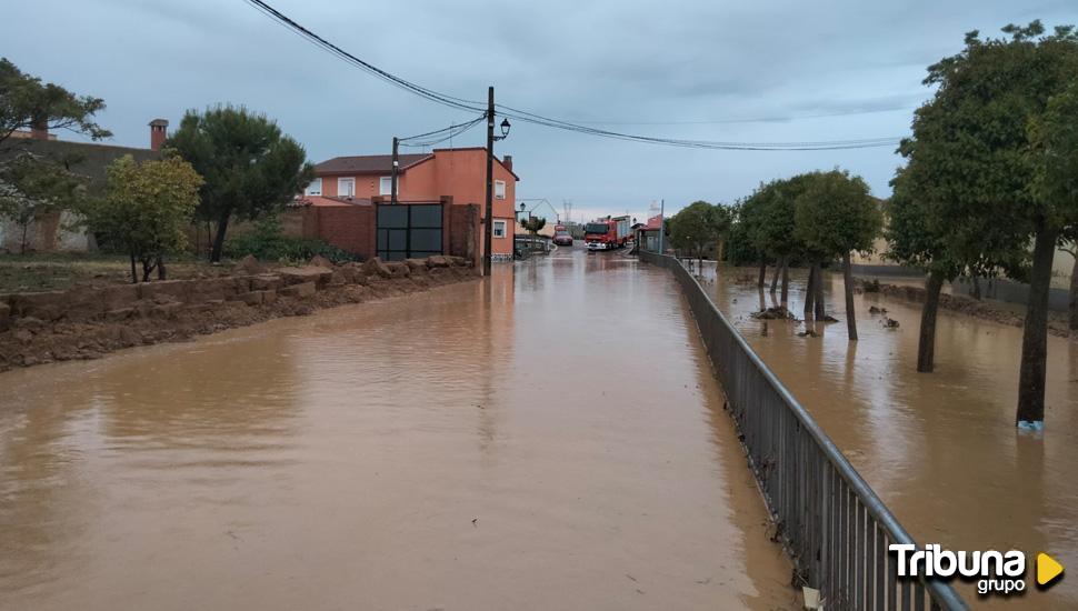
[[[841,322],[821,338],[800,338],[801,324],[749,317],[773,304],[757,289],[756,271],[725,268],[716,279],[705,263],[703,273],[716,304],[916,540],[1021,550],[1030,585],[1037,552],[1078,570],[1078,343],[1048,338],[1047,430],[1020,434],[1021,329],[940,310],[936,371],[917,373],[918,303],[855,296],[860,340],[851,343],[842,280],[832,276],[828,311]],[[800,317],[803,277],[792,280],[790,310]],[[868,312],[874,304],[900,327],[885,329]],[[960,588],[990,607],[1078,608],[1078,575],[1009,601]]]

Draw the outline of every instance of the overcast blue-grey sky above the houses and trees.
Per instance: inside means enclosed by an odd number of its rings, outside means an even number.
[[[355,56],[437,91],[597,127],[671,138],[789,142],[901,137],[930,91],[925,68],[966,31],[1078,21],[1074,0],[817,1],[272,0]],[[147,146],[153,118],[220,102],[276,119],[312,161],[388,153],[470,117],[319,50],[242,0],[4,0],[0,54],[103,98],[118,144]],[[665,124],[659,124],[665,123]],[[70,136],[61,136],[70,138]],[[481,146],[477,128],[457,146]],[[519,198],[573,220],[731,202],[760,182],[839,166],[889,194],[894,150],[752,152],[621,142],[513,126]],[[540,209],[542,210],[542,209]],[[539,211],[537,211],[539,213]]]

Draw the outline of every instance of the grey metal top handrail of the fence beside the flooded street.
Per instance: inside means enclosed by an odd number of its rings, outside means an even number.
[[[860,473],[854,468],[850,461],[842,454],[838,445],[831,440],[831,438],[824,431],[818,422],[809,414],[808,410],[801,405],[800,401],[793,397],[793,393],[786,388],[785,384],[778,379],[778,375],[771,371],[771,368],[763,362],[763,359],[756,353],[755,350],[749,345],[748,341],[743,335],[730,323],[722,311],[715,304],[710,296],[703,290],[700,283],[692,277],[692,274],[685,268],[680,260],[666,254],[658,254],[653,252],[641,251],[641,258],[643,260],[649,260],[655,258],[657,261],[662,261],[663,267],[671,268],[673,270],[680,271],[685,274],[688,280],[692,281],[692,287],[695,290],[699,291],[701,297],[705,298],[705,302],[713,312],[715,317],[719,322],[726,328],[726,330],[733,338],[737,347],[745,353],[745,355],[750,360],[752,365],[759,370],[767,380],[768,384],[775,390],[775,392],[782,399],[786,407],[792,412],[797,418],[800,425],[809,433],[812,440],[817,443],[824,457],[830,462],[831,467],[835,468],[836,472],[842,480],[849,485],[854,493],[864,504],[866,511],[876,519],[877,522],[884,528],[888,537],[897,543],[902,544],[916,544],[912,535],[902,528],[898,519],[887,509],[884,501],[876,494],[876,491],[871,489],[868,482],[861,478]],[[661,259],[660,259],[661,258]],[[683,283],[681,283],[683,287]],[[930,591],[931,598],[948,609],[967,609],[965,601],[955,591],[950,584],[934,579],[920,578],[920,581]]]

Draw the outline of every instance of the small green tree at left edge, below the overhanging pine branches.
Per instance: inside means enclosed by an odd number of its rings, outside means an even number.
[[[19,252],[30,246],[30,227],[41,219],[77,208],[86,196],[84,177],[58,162],[31,152],[20,152],[0,163],[0,217],[11,219],[20,230]]]

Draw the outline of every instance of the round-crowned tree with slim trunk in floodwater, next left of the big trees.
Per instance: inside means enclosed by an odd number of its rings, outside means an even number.
[[[847,171],[816,174],[795,204],[795,234],[814,253],[817,266],[822,258],[841,257],[846,289],[846,327],[850,341],[857,341],[854,312],[851,251],[868,251],[879,234],[882,214],[869,194],[868,184]],[[819,273],[817,267],[817,273]],[[817,276],[817,281],[821,277]]]

